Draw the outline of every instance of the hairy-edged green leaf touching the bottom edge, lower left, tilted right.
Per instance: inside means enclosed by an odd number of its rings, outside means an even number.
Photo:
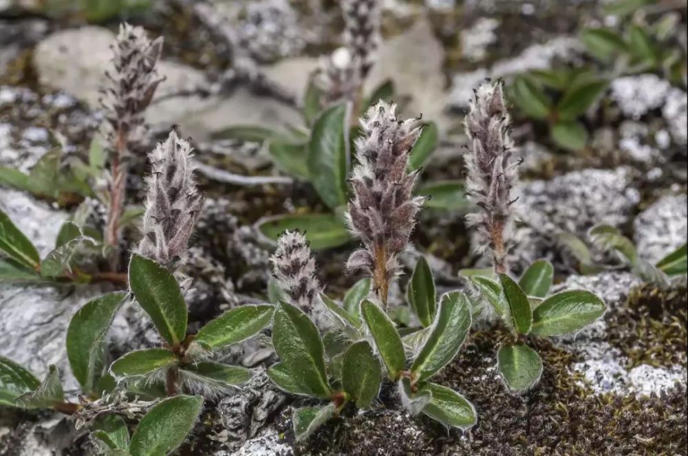
[[[178,395],[163,400],[146,413],[131,436],[132,456],[171,453],[191,432],[203,407],[200,396]]]

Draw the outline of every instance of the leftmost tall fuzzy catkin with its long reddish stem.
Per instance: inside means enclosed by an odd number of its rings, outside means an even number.
[[[118,222],[125,206],[127,160],[146,132],[144,111],[164,79],[155,71],[162,52],[162,36],[151,41],[142,28],[123,23],[112,49],[114,72],[105,72],[101,104],[110,127],[111,182],[105,241],[116,252]]]

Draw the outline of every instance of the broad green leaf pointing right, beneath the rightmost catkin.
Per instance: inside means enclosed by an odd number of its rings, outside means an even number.
[[[557,293],[535,307],[530,334],[544,337],[575,332],[604,312],[604,302],[595,294],[584,290]]]

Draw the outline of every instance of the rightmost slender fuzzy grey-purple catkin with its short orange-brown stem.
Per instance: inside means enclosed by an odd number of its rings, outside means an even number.
[[[482,248],[492,251],[499,273],[508,270],[508,235],[513,223],[510,191],[518,180],[519,162],[511,160],[509,124],[502,82],[484,83],[475,91],[465,120],[471,140],[466,153],[466,186],[469,197],[480,207],[468,221],[476,228]]]

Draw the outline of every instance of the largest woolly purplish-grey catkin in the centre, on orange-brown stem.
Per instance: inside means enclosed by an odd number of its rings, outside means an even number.
[[[385,306],[389,283],[401,270],[398,254],[407,248],[424,202],[411,195],[418,172],[407,171],[422,122],[398,120],[395,111],[396,105],[380,101],[361,118],[358,164],[351,177],[354,199],[347,213],[352,232],[364,246],[349,257],[347,269],[370,274]]]

